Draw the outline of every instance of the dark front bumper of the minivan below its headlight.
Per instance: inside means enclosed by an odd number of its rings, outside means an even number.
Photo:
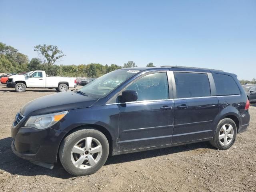
[[[57,161],[58,147],[66,132],[46,128],[12,127],[12,151],[20,158],[34,161],[54,163]]]

